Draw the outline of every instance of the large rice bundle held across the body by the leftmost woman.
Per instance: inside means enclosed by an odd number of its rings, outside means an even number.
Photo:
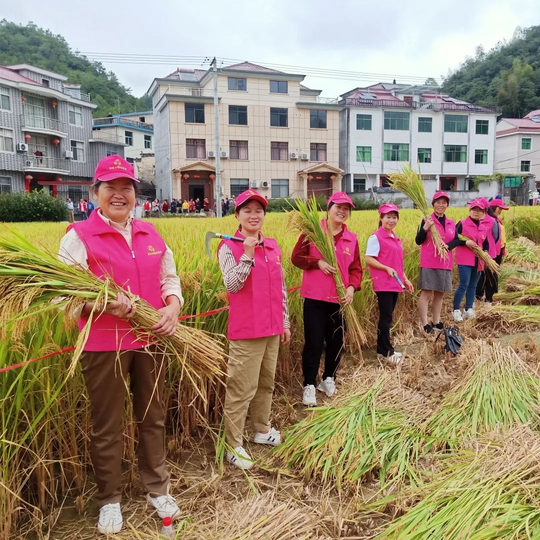
[[[160,319],[158,311],[145,300],[131,294],[111,279],[98,279],[90,271],[59,261],[55,254],[41,251],[19,235],[0,239],[0,323],[11,321],[20,336],[29,323],[46,312],[65,307],[72,312],[85,302],[95,302],[85,328],[80,332],[69,373],[75,372],[90,325],[102,313],[108,301],[122,292],[136,311],[130,320],[134,333],[150,340],[159,352],[181,366],[186,377],[200,393],[206,378],[224,375],[225,352],[221,343],[203,330],[179,324],[172,336],[155,335],[150,328]],[[53,302],[55,299],[59,301]]]

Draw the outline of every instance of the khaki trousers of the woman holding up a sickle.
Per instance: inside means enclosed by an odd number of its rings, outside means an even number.
[[[231,340],[225,393],[225,438],[233,448],[242,446],[248,408],[254,431],[270,429],[279,335]]]

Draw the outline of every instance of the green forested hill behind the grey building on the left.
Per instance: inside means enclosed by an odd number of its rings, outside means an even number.
[[[120,112],[151,109],[148,96],[132,96],[130,89],[120,84],[112,71],[74,53],[62,36],[33,23],[23,26],[3,19],[0,21],[0,65],[14,64],[54,71],[68,77],[69,83],[82,85],[81,90],[90,93],[92,103],[98,105],[94,117],[118,113],[118,100]]]

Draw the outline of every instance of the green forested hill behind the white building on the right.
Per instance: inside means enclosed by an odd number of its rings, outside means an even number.
[[[507,118],[540,109],[540,26],[517,28],[489,52],[481,45],[444,80],[442,89],[478,105],[498,105]]]

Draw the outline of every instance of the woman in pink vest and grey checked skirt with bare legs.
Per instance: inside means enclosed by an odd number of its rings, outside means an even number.
[[[428,334],[433,332],[434,328],[438,330],[444,328],[441,322],[442,301],[444,293],[452,290],[452,266],[454,264],[451,251],[447,249],[444,258],[436,252],[430,230],[433,227],[436,228],[447,248],[451,245],[450,242],[457,239],[455,222],[444,215],[450,204],[450,195],[444,191],[437,191],[433,195],[431,204],[433,204],[433,214],[429,218],[422,220],[415,239],[416,244],[421,246],[418,311],[424,331]],[[457,245],[457,242],[455,245]],[[431,324],[428,323],[430,300]]]

